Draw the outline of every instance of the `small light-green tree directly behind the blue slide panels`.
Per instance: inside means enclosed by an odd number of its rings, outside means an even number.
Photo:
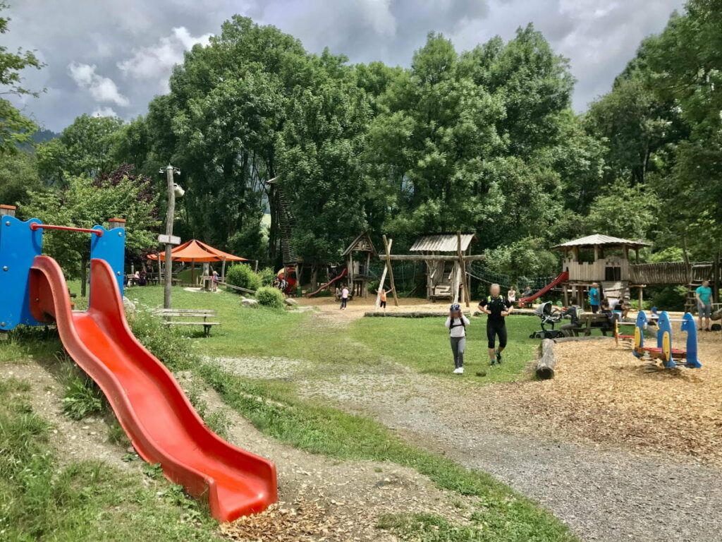
[[[25,215],[46,224],[92,228],[108,218],[126,219],[126,251],[139,253],[156,244],[155,197],[147,197],[149,181],[124,176],[91,181],[69,177],[63,189],[30,192]],[[86,294],[90,238],[85,233],[46,231],[45,253],[55,258],[68,278],[80,278],[81,295]]]

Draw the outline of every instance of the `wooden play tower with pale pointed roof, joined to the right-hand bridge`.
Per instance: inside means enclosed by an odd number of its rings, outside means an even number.
[[[635,262],[639,262],[639,250],[650,246],[642,241],[632,241],[619,237],[611,237],[595,233],[591,236],[567,241],[554,250],[562,251],[564,259],[563,270],[569,273],[565,284],[565,304],[569,303],[569,289],[572,298],[578,304],[583,304],[584,290],[591,283],[599,283],[604,297],[623,298],[630,293],[630,287],[644,287],[633,284],[632,265],[630,264],[630,250],[635,251]]]

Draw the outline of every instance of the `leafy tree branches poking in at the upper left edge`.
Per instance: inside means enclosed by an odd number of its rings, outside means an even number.
[[[0,34],[8,31],[10,19],[1,15],[7,8],[7,3],[0,0]],[[6,46],[0,46],[0,94],[38,96],[37,92],[22,85],[20,73],[27,68],[42,67],[43,63],[32,51],[12,53]],[[32,134],[37,129],[38,126],[14,108],[9,100],[0,98],[0,154],[15,152],[18,145],[32,145]]]

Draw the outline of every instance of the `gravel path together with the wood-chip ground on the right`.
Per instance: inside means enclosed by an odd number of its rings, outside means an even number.
[[[349,306],[347,318],[363,307]],[[338,324],[326,317],[338,311],[335,303],[320,309],[319,332]],[[722,407],[722,337],[701,335],[705,369],[677,376],[645,374],[612,345],[558,345],[556,379],[486,387],[459,387],[392,362],[340,377],[300,360],[275,364],[309,400],[372,416],[410,442],[494,474],[586,541],[718,542],[722,470],[710,450]],[[236,374],[276,377],[253,360],[220,363]],[[687,423],[695,397],[701,418]]]

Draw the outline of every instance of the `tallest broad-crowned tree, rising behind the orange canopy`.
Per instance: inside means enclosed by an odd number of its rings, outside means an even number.
[[[170,94],[151,103],[153,155],[181,167],[194,235],[226,249],[256,250],[266,181],[279,173],[278,134],[290,96],[309,77],[308,59],[290,35],[236,16],[209,46],[186,53]],[[272,223],[271,247],[277,232]],[[245,241],[251,245],[240,246]]]

